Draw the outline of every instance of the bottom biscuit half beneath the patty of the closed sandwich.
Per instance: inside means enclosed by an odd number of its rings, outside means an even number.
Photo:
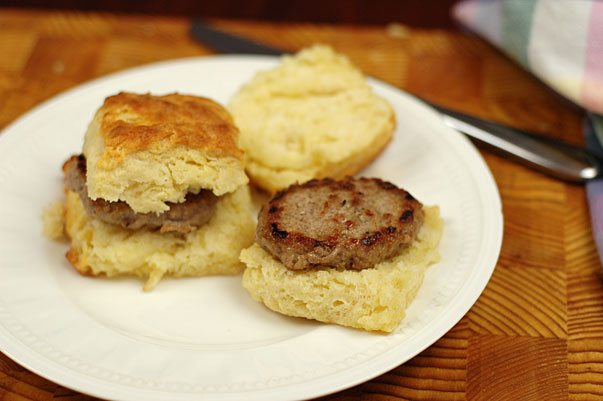
[[[187,234],[132,231],[92,219],[78,194],[67,191],[65,230],[71,239],[67,259],[92,276],[135,275],[151,290],[164,275],[235,275],[243,271],[241,249],[253,243],[249,187],[224,195],[213,217]]]

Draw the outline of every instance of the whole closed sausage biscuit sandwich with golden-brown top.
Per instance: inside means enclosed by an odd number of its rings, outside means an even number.
[[[206,98],[119,93],[64,167],[69,262],[92,276],[238,274],[254,221],[230,114]]]

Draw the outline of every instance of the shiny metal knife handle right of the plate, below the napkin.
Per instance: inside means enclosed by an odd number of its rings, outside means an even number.
[[[601,166],[586,150],[526,131],[432,105],[444,124],[518,162],[564,181],[582,183],[599,176]]]

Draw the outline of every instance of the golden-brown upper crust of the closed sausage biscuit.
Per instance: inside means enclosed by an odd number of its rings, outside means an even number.
[[[243,160],[231,115],[207,98],[122,92],[105,99],[98,113],[102,113],[102,168],[113,168],[132,153],[177,146]]]

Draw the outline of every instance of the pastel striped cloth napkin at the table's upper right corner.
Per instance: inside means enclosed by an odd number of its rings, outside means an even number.
[[[584,108],[587,149],[603,160],[603,0],[462,0],[452,15]],[[603,265],[603,179],[586,191]]]

